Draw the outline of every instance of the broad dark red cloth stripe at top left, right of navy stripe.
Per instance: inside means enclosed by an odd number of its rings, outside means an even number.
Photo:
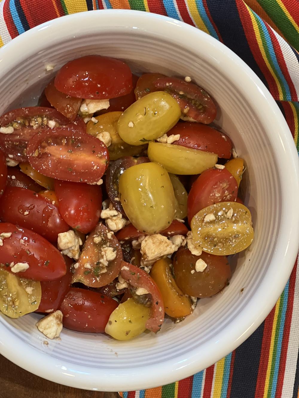
[[[42,10],[40,2],[20,0],[20,4],[30,28],[43,22],[53,20],[59,16],[57,15],[52,0],[43,0]]]

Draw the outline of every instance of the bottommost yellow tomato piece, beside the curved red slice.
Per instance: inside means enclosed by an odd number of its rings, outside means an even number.
[[[150,308],[128,298],[112,312],[105,333],[117,340],[130,340],[146,330]]]

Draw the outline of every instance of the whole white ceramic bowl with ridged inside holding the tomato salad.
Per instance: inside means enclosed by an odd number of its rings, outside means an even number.
[[[136,71],[191,76],[218,103],[216,124],[247,165],[245,203],[255,239],[232,258],[229,287],[203,299],[181,324],[128,342],[63,330],[40,334],[36,314],[0,318],[0,352],[49,380],[90,390],[134,390],[190,376],[230,353],[261,324],[291,273],[298,250],[298,155],[291,133],[257,76],[224,45],[182,22],[145,12],[105,10],[40,25],[0,50],[0,113],[36,103],[70,59],[101,54]],[[46,72],[45,65],[55,64]],[[35,100],[35,102],[34,102]],[[242,294],[240,289],[244,288]]]

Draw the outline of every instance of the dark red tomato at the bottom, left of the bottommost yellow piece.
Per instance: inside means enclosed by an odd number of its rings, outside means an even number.
[[[63,326],[86,333],[104,333],[110,314],[118,306],[102,293],[73,287],[65,296],[60,310]]]

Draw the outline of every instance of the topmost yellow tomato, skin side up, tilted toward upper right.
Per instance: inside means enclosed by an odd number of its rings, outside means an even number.
[[[164,91],[149,93],[132,103],[120,116],[117,132],[131,145],[142,145],[167,133],[179,120],[177,101]]]

